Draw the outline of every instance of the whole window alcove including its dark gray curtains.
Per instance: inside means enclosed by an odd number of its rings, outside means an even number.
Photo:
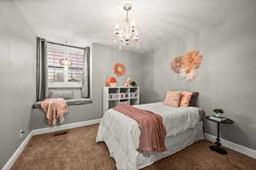
[[[70,105],[91,103],[90,48],[37,38],[37,101],[67,99]]]

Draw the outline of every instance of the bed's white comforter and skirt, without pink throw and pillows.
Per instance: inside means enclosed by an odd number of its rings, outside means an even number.
[[[153,111],[162,116],[166,127],[166,151],[144,153],[137,151],[140,129],[137,122],[113,109],[102,117],[96,142],[105,142],[117,169],[135,170],[171,156],[190,144],[203,139],[203,111],[198,107],[171,107],[162,102],[135,105],[138,109]]]

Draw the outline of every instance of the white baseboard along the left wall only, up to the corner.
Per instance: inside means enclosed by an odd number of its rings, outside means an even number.
[[[26,144],[30,141],[31,138],[32,138],[32,132],[26,136],[26,139],[24,139],[23,142],[20,144],[19,148],[15,150],[15,153],[5,163],[2,170],[9,170],[11,167],[13,167],[13,165],[15,164],[15,161],[18,159],[22,151],[25,149]]]

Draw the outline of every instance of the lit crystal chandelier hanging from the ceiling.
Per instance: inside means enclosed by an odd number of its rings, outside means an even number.
[[[128,15],[128,12],[131,10],[131,4],[126,3],[123,8],[125,10],[125,20],[120,27],[119,24],[116,24],[114,30],[114,42],[119,43],[119,48],[128,46],[130,42],[137,42],[139,40],[135,23],[129,19]]]

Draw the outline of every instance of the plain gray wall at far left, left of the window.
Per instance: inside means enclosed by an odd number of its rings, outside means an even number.
[[[35,102],[36,37],[12,0],[0,2],[0,169],[29,130]]]

